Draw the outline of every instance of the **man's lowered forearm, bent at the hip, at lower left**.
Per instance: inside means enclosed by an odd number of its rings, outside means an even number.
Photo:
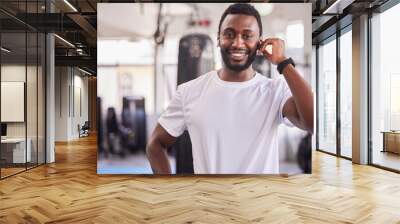
[[[167,150],[159,142],[150,142],[147,146],[146,153],[154,174],[171,173]]]

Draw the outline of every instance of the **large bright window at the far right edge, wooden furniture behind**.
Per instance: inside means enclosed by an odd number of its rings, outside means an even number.
[[[400,170],[400,4],[374,15],[372,25],[372,163]]]

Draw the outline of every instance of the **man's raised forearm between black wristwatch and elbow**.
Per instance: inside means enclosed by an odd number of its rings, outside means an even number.
[[[314,102],[310,85],[291,64],[283,69],[283,75],[292,92],[301,124],[312,132],[314,126]]]

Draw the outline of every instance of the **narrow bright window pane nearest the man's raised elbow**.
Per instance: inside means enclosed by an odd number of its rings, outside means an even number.
[[[336,153],[336,39],[318,48],[318,149]]]

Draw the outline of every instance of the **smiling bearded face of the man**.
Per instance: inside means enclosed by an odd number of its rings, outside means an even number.
[[[254,16],[227,15],[219,34],[224,65],[232,71],[247,69],[256,57],[259,41],[260,30]]]

